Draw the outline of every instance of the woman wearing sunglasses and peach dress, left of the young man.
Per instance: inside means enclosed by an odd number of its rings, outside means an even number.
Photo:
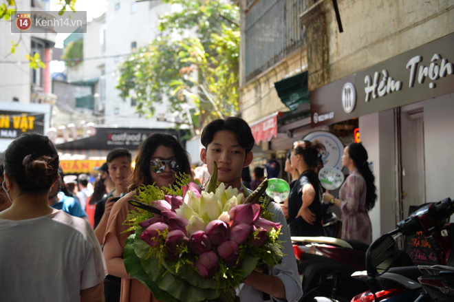
[[[134,207],[128,200],[137,195],[142,184],[169,186],[174,184],[178,173],[191,175],[188,153],[180,142],[169,134],[155,133],[140,144],[136,157],[136,168],[131,175],[129,193],[122,197],[111,210],[104,237],[104,255],[109,274],[122,278],[120,301],[156,301],[155,297],[140,281],[131,279],[123,263],[123,248],[131,232],[123,233],[128,226],[123,225],[129,211]]]

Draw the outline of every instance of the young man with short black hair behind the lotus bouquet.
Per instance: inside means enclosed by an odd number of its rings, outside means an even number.
[[[200,158],[213,174],[217,164],[217,181],[244,191],[251,191],[241,185],[241,171],[249,166],[254,157],[251,150],[255,139],[249,125],[241,118],[230,117],[226,120],[210,122],[201,136],[204,149]],[[268,211],[272,213],[274,222],[282,225],[280,241],[283,242],[282,262],[267,272],[253,271],[241,286],[241,301],[299,301],[303,292],[296,267],[296,259],[292,248],[290,233],[281,207],[270,202]]]

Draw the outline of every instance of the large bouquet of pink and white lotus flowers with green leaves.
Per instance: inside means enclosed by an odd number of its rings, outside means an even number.
[[[217,184],[205,190],[180,175],[179,186],[142,186],[129,202],[125,224],[135,230],[124,250],[127,272],[164,301],[235,301],[235,288],[252,272],[279,264],[281,225],[261,197],[267,182],[247,198]]]

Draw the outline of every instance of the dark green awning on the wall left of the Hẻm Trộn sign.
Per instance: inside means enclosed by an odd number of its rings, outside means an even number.
[[[290,78],[274,83],[277,95],[290,111],[295,111],[298,105],[310,103],[309,89],[307,88],[307,72],[301,72]]]

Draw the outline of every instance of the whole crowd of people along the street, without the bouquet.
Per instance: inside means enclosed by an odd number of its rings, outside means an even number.
[[[252,179],[244,173],[255,140],[241,118],[210,122],[201,142],[204,169],[211,174],[216,163],[217,180],[228,186],[250,193],[263,181],[264,169],[268,177],[273,173],[270,166],[256,167]],[[342,211],[342,238],[371,242],[367,211],[376,195],[367,152],[356,143],[345,148],[349,177],[334,197],[318,180],[323,148],[316,140],[296,141],[288,151],[284,171],[291,175],[290,195],[282,205],[268,205],[283,226],[285,256],[268,272],[246,277],[238,292],[241,301],[299,301],[301,280],[290,236],[325,235],[323,203]],[[152,134],[138,147],[134,169],[128,149],[112,149],[94,182],[87,174],[65,175],[54,144],[39,134],[23,134],[2,157],[0,301],[157,301],[125,268],[123,249],[131,232],[123,223],[134,211],[128,201],[140,186],[177,184],[178,173],[198,176],[180,142]]]

